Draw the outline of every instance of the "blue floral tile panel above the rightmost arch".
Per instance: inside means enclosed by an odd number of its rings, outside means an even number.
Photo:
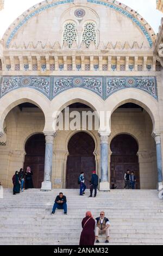
[[[106,78],[106,97],[122,89],[136,88],[158,99],[155,77],[111,77]]]

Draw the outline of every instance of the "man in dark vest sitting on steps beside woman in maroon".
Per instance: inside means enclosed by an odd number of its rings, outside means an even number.
[[[106,241],[105,243],[109,243],[109,227],[110,223],[108,218],[105,217],[105,212],[102,211],[100,213],[100,217],[96,218],[96,230],[95,230],[95,235],[96,235],[96,243],[99,243],[98,236],[99,234],[105,234],[106,235]]]

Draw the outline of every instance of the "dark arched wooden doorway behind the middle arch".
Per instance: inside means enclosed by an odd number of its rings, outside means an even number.
[[[96,161],[93,152],[95,142],[86,132],[78,132],[68,143],[69,156],[67,158],[66,187],[79,188],[78,176],[85,173],[86,185],[91,180],[92,171],[96,169]]]

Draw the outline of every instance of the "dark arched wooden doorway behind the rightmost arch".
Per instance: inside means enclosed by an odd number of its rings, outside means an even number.
[[[137,151],[139,147],[136,140],[127,134],[116,136],[110,145],[112,155],[110,161],[110,180],[117,184],[117,189],[124,188],[124,174],[127,169],[134,171],[136,176],[136,189],[140,189],[139,159]]]

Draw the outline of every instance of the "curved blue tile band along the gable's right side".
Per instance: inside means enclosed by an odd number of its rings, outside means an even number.
[[[153,46],[153,41],[151,38],[151,35],[149,35],[149,33],[147,32],[147,29],[141,24],[141,22],[136,19],[133,15],[131,15],[127,10],[123,10],[120,7],[117,7],[114,4],[110,4],[110,3],[105,3],[103,1],[97,1],[97,0],[87,0],[88,3],[93,3],[93,4],[100,4],[100,5],[104,5],[105,7],[109,7],[111,9],[114,9],[116,11],[118,11],[121,14],[124,14],[125,16],[127,16],[129,19],[131,19],[136,26],[138,26],[141,31],[143,32],[143,34],[146,36],[148,42],[149,42],[149,46],[152,47]]]

